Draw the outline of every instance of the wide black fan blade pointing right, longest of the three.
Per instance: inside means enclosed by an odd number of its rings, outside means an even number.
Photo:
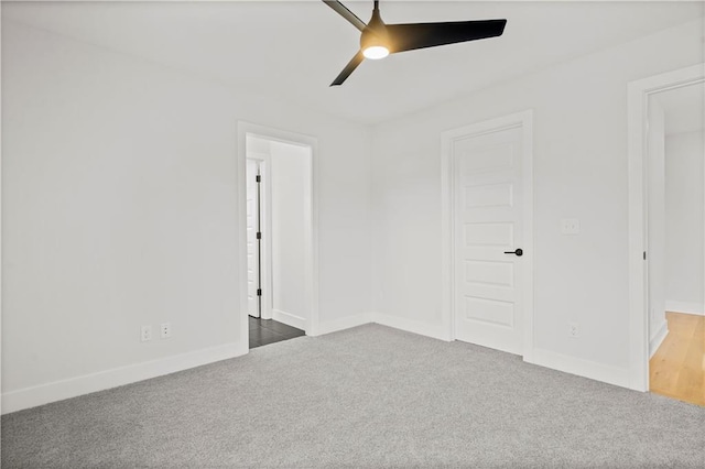
[[[389,52],[413,51],[437,45],[500,36],[507,20],[453,21],[446,23],[388,24]]]

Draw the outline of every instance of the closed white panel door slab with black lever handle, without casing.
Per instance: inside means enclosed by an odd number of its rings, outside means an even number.
[[[456,338],[521,355],[522,128],[455,139],[452,150]]]

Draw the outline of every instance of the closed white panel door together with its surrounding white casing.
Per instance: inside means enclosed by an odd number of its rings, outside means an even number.
[[[443,317],[448,338],[531,361],[532,111],[443,132],[442,145]],[[517,249],[522,255],[516,255]]]

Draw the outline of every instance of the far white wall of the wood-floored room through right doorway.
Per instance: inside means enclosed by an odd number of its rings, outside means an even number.
[[[703,178],[705,135],[665,139],[665,301],[669,310],[704,313]]]

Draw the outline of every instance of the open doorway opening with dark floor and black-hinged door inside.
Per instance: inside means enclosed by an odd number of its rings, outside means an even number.
[[[252,349],[312,334],[315,141],[246,123],[239,133],[246,231],[241,313]]]

